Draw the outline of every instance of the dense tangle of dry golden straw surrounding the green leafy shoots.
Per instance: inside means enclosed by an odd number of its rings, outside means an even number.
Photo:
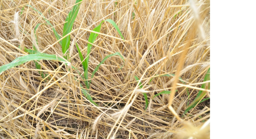
[[[0,138],[210,138],[210,1],[0,7]]]

